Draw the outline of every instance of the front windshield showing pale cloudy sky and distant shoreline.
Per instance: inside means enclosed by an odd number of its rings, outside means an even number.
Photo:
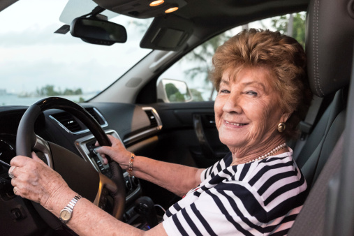
[[[72,6],[79,3],[77,12]],[[95,6],[87,0],[22,0],[0,12],[0,105],[31,105],[47,96],[87,101],[151,52],[139,43],[152,19],[108,10],[101,14],[126,27],[126,43],[93,45],[70,32],[54,34]]]

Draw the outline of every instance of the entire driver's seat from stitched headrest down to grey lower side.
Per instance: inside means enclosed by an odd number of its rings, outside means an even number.
[[[353,0],[311,0],[309,3],[306,51],[311,90],[320,97],[336,95],[297,158],[313,188],[288,235],[353,235],[354,201],[351,199],[348,205],[343,205],[341,201],[346,199],[340,199],[343,189],[353,189],[344,185],[352,179],[347,176],[343,181],[339,177],[339,172],[348,173],[350,166],[346,165],[351,161],[346,157],[348,150],[354,150],[348,131],[353,126],[353,121],[348,119],[352,116],[353,101],[347,99],[354,95],[348,92],[353,62],[353,4]],[[352,86],[349,91],[353,89]],[[341,165],[342,158],[346,161],[344,165]],[[347,209],[343,210],[344,207]]]

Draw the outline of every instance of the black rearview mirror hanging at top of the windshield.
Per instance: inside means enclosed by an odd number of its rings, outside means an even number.
[[[71,22],[70,33],[87,43],[112,45],[126,42],[126,28],[97,18],[78,17]]]

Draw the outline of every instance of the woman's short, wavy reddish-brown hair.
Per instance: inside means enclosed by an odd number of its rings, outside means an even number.
[[[297,124],[304,119],[311,103],[307,80],[306,55],[294,38],[262,29],[245,29],[217,48],[212,59],[211,80],[219,91],[223,73],[229,69],[267,68],[271,85],[279,92],[283,112],[293,112],[286,121],[286,139],[297,135]]]

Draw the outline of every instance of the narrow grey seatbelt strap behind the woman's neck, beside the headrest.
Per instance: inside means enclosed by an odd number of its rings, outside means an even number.
[[[320,110],[320,105],[322,104],[323,98],[320,98],[319,96],[314,95],[312,98],[312,103],[309,108],[309,112],[307,112],[307,115],[304,119],[304,121],[300,121],[299,128],[301,131],[300,139],[297,140],[296,145],[294,147],[294,158],[296,160],[297,156],[299,156],[302,147],[304,147],[307,137],[309,136],[309,133],[311,133],[312,128],[314,127],[314,123],[316,120],[316,117],[318,115],[318,111]]]

